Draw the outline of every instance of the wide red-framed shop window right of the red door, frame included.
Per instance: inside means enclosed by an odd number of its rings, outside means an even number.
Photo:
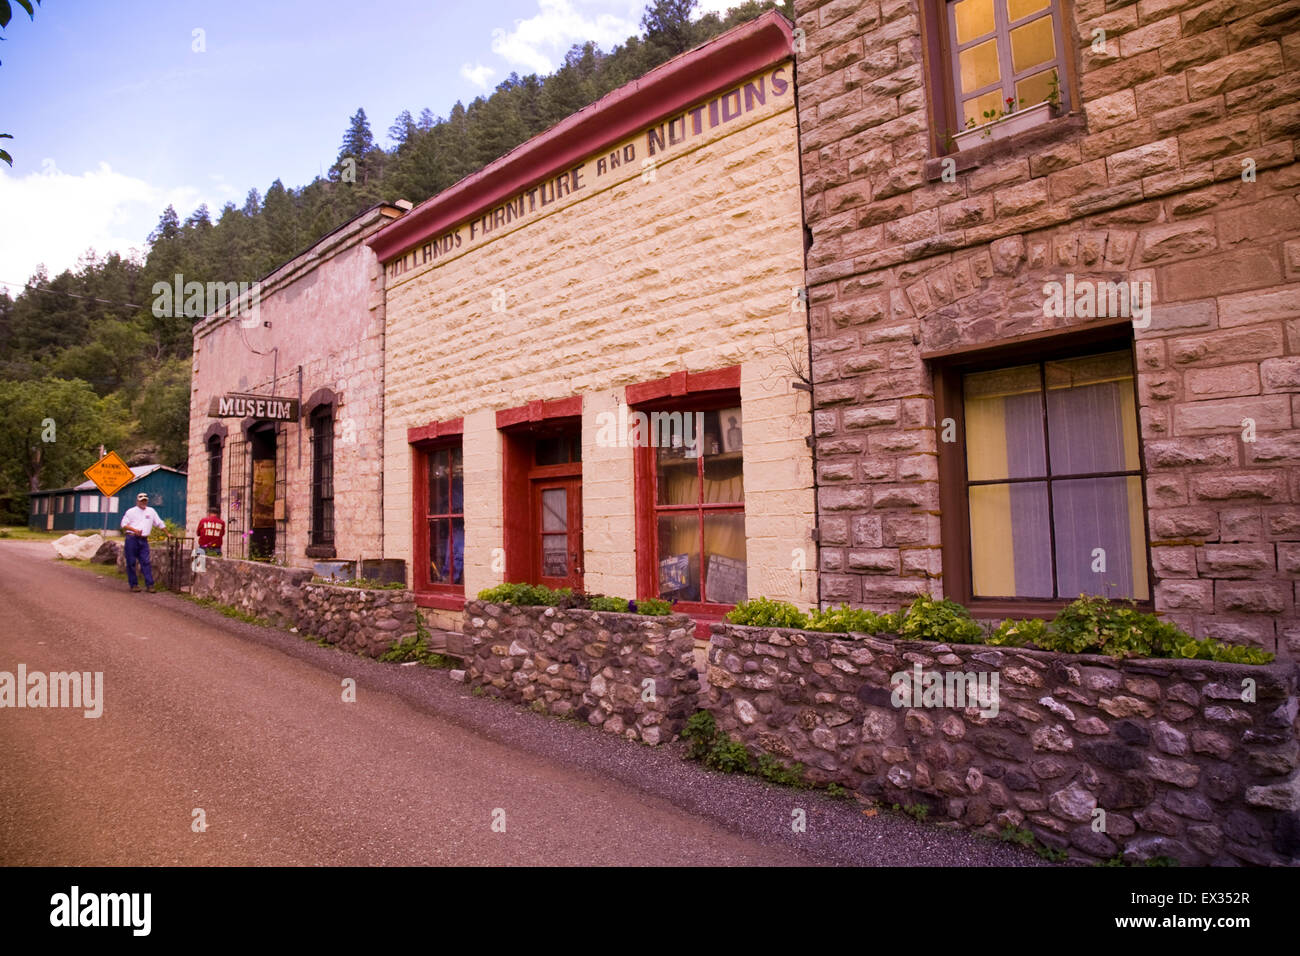
[[[627,397],[637,596],[716,620],[748,597],[740,368],[679,373]]]

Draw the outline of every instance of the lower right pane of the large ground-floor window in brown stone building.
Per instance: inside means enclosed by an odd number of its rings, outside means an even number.
[[[1056,481],[1052,510],[1061,597],[1101,594],[1147,600],[1141,479]]]

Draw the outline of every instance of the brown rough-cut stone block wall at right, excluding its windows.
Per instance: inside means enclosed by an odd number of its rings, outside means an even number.
[[[1066,273],[1149,281],[1156,607],[1300,654],[1300,7],[1065,9],[1074,111],[954,153],[948,182],[916,0],[796,3],[822,598],[944,592],[923,355],[1088,325],[1044,316]]]

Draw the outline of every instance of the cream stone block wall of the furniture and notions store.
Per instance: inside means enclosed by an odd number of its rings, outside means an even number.
[[[785,64],[781,78],[790,75]],[[770,75],[771,70],[764,72]],[[807,606],[814,559],[811,408],[793,86],[655,155],[646,135],[582,164],[584,189],[486,239],[387,277],[385,535],[411,555],[407,428],[464,416],[465,593],[502,580],[495,410],[582,397],[589,591],[634,596],[633,453],[599,447],[627,385],[741,367],[749,588]],[[689,122],[689,121],[688,121]],[[624,147],[636,161],[597,174]],[[437,202],[437,200],[434,200]],[[391,263],[390,263],[391,265]]]

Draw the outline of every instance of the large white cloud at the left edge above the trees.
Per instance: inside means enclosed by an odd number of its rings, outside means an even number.
[[[146,237],[168,204],[183,220],[203,202],[217,217],[221,202],[234,199],[224,182],[200,190],[160,189],[114,172],[107,163],[79,176],[52,160],[43,172],[16,177],[0,169],[0,280],[25,282],[44,264],[51,276],[73,268],[88,248],[143,255]],[[17,290],[9,287],[9,294]]]

